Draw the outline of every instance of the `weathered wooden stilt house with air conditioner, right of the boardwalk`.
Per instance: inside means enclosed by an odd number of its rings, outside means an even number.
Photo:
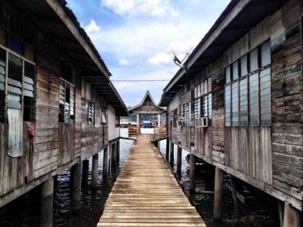
[[[303,195],[302,13],[301,0],[232,0],[160,101],[172,143],[296,213]]]

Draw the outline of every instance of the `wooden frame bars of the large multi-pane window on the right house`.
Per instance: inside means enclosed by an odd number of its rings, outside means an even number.
[[[236,61],[233,61],[232,63],[228,64],[227,66],[224,67],[224,78],[225,78],[225,84],[224,84],[224,125],[225,127],[271,127],[272,126],[272,119],[270,120],[271,121],[271,124],[270,126],[262,126],[261,125],[261,105],[260,105],[260,73],[266,69],[270,69],[270,75],[271,75],[271,61],[268,65],[265,65],[265,66],[261,66],[262,63],[261,63],[261,58],[262,58],[262,53],[261,53],[261,47],[263,44],[267,43],[267,42],[270,42],[270,45],[271,45],[271,39],[267,39],[265,40],[264,42],[262,42],[261,44],[259,44],[257,47],[254,47],[252,49],[250,49],[249,51],[247,51],[245,54],[241,55]],[[257,49],[257,56],[258,56],[258,69],[257,70],[254,70],[252,72],[250,72],[250,53],[252,51],[255,51]],[[271,52],[270,52],[271,54]],[[244,76],[241,76],[241,59],[243,57],[245,57],[246,55],[246,68],[247,68],[247,73],[246,75]],[[233,73],[232,73],[232,66],[235,62],[238,62],[238,79],[236,80],[232,80],[233,77]],[[227,68],[230,68],[230,82],[229,83],[226,83],[226,69]],[[254,74],[257,74],[257,86],[258,86],[258,125],[257,126],[252,126],[250,124],[250,108],[249,108],[249,76],[251,75],[254,75]],[[241,121],[240,121],[240,82],[242,80],[246,79],[247,80],[247,83],[246,83],[246,91],[247,91],[247,126],[241,126]],[[271,81],[271,80],[270,80]],[[234,83],[238,83],[238,126],[233,126],[233,121],[232,121],[232,85]],[[230,122],[229,122],[229,126],[226,126],[226,103],[225,103],[225,97],[226,97],[226,87],[227,86],[230,86]],[[271,91],[272,92],[272,91]]]

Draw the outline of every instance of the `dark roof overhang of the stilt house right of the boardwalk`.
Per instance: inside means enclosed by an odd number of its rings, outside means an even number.
[[[212,61],[218,59],[249,30],[287,2],[289,0],[232,0],[184,63],[188,79],[192,79]],[[187,77],[184,69],[176,73],[164,88],[160,106],[169,104],[180,86],[188,82]]]

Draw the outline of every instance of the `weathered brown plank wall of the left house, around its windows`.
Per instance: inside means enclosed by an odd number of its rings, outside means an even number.
[[[35,137],[30,142],[28,128],[24,124],[22,156],[12,158],[7,155],[8,125],[0,123],[2,206],[58,174],[62,169],[99,152],[109,141],[108,124],[101,124],[100,113],[100,106],[106,108],[107,103],[97,96],[97,92],[89,84],[83,88],[81,69],[68,58],[64,50],[59,49],[47,36],[39,32],[7,1],[0,2],[0,13],[0,34],[6,31],[24,42],[26,58],[36,63],[33,122]],[[59,123],[62,60],[71,64],[76,71],[75,123],[71,124]],[[95,103],[94,125],[86,123],[85,100]],[[30,183],[30,186],[27,183]],[[14,191],[15,189],[18,190]]]

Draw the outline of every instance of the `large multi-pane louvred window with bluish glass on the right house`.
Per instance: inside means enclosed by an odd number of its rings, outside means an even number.
[[[271,126],[270,61],[270,41],[267,41],[249,52],[249,73],[247,55],[240,58],[239,66],[233,63],[225,68],[225,126]],[[231,66],[233,79],[237,78],[234,71],[240,72],[240,78],[233,82],[228,80]]]

